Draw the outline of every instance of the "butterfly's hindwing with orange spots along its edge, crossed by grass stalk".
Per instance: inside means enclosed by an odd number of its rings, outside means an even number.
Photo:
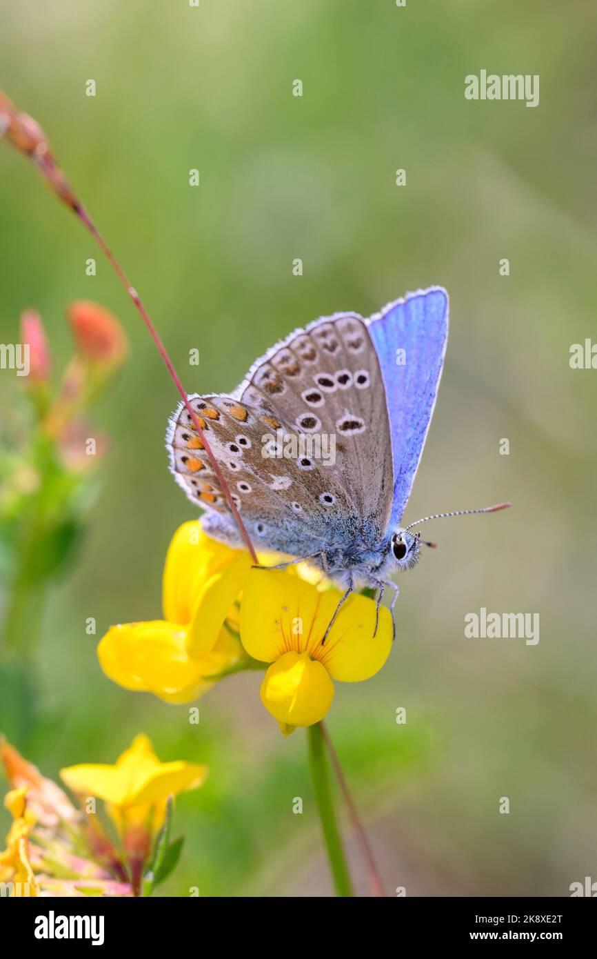
[[[357,522],[346,493],[324,465],[312,456],[285,455],[293,452],[297,431],[271,406],[220,395],[192,396],[190,401],[258,548],[310,555],[330,545],[338,523],[346,530],[351,517]],[[208,512],[206,530],[240,546],[218,476],[183,404],[172,417],[167,446],[176,481]]]

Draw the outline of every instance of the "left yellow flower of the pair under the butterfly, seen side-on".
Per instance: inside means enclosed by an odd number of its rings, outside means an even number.
[[[112,626],[98,646],[105,674],[171,703],[209,690],[243,656],[224,622],[250,567],[248,553],[206,536],[198,521],[184,523],[166,557],[164,619]]]

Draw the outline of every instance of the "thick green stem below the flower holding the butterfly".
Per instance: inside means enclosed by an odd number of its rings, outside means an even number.
[[[310,726],[308,735],[311,781],[326,842],[333,884],[337,896],[350,897],[353,895],[353,887],[333,807],[328,759],[321,724],[315,723]]]

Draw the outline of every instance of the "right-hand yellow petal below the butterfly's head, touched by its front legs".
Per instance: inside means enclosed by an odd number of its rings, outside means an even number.
[[[351,596],[338,613],[319,657],[333,679],[359,683],[379,672],[392,649],[392,617],[383,606],[379,607],[374,636],[375,626],[375,601]]]

